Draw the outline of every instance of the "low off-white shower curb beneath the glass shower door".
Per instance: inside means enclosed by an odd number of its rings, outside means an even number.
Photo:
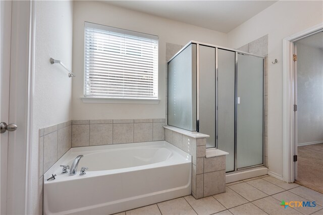
[[[231,183],[231,182],[240,181],[248,178],[266,175],[267,171],[268,171],[268,168],[266,167],[257,167],[254,169],[244,170],[237,173],[228,173],[226,175],[226,183]]]

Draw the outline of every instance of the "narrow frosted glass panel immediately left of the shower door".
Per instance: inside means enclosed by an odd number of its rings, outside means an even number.
[[[218,49],[218,149],[228,152],[226,172],[234,171],[235,52]]]

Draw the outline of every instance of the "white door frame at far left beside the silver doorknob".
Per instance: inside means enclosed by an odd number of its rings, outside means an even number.
[[[34,1],[12,1],[6,214],[31,211],[31,135],[34,70]],[[9,42],[9,41],[7,41]],[[9,88],[8,88],[9,90]]]

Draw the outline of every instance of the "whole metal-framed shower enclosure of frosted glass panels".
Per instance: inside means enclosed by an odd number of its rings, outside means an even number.
[[[168,125],[210,135],[227,172],[263,165],[263,63],[195,41],[168,62]]]

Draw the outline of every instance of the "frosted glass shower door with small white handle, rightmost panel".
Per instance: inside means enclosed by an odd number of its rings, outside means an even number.
[[[263,59],[238,54],[237,81],[237,168],[243,168],[263,163]]]

